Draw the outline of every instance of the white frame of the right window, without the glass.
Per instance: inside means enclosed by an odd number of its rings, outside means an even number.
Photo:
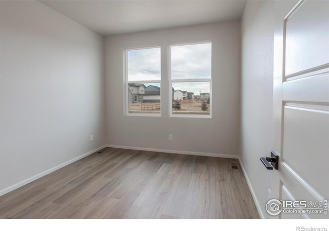
[[[171,78],[171,47],[175,46],[186,46],[186,45],[196,45],[196,44],[211,44],[211,70],[210,70],[210,79],[177,79],[173,80]],[[170,44],[169,45],[169,53],[168,53],[168,69],[169,69],[169,117],[180,117],[180,118],[212,118],[212,54],[213,54],[213,48],[212,48],[212,42],[211,41],[202,41],[202,42],[191,42],[191,43],[176,43],[176,44]],[[173,83],[182,83],[182,82],[209,82],[209,98],[210,98],[210,104],[209,104],[209,114],[173,114]],[[201,97],[201,95],[200,95]]]

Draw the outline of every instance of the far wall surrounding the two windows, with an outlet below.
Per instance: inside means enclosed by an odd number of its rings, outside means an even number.
[[[205,40],[213,42],[212,119],[169,118],[168,44]],[[124,116],[124,49],[159,45],[162,46],[162,116]],[[107,143],[237,156],[240,123],[240,45],[240,21],[106,37]],[[169,134],[173,134],[171,141],[168,139]]]

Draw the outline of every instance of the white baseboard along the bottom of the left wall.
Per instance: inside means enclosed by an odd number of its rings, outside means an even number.
[[[73,163],[73,162],[76,162],[76,161],[78,161],[78,160],[80,160],[80,159],[82,159],[82,158],[84,158],[84,157],[87,157],[87,156],[93,154],[94,152],[99,151],[99,150],[101,150],[101,149],[103,149],[103,148],[105,148],[105,147],[107,147],[107,145],[103,145],[103,146],[101,146],[101,147],[99,147],[99,148],[96,148],[96,149],[94,149],[94,150],[88,151],[88,152],[84,153],[83,155],[81,155],[81,156],[79,156],[79,157],[76,157],[76,158],[74,158],[74,159],[72,159],[72,160],[66,161],[66,162],[63,163],[63,164],[57,165],[57,166],[55,166],[55,167],[53,167],[53,168],[50,168],[50,169],[48,169],[48,170],[46,170],[46,171],[44,171],[44,172],[41,172],[40,174],[37,174],[37,175],[35,175],[35,176],[33,176],[33,177],[30,177],[30,178],[28,178],[28,179],[26,179],[26,180],[24,180],[24,181],[21,181],[20,183],[17,183],[17,184],[14,184],[14,185],[12,185],[12,186],[10,186],[10,187],[8,187],[8,188],[5,188],[5,189],[3,189],[3,190],[0,191],[0,196],[5,195],[5,194],[7,194],[8,192],[13,191],[13,190],[15,190],[16,188],[22,187],[23,185],[26,185],[26,184],[28,184],[28,183],[30,183],[30,182],[32,182],[32,181],[35,181],[36,179],[42,178],[42,177],[44,177],[44,176],[50,174],[50,173],[53,172],[53,171],[56,171],[56,170],[58,170],[58,169],[60,169],[60,168],[62,168],[62,167],[65,167],[66,165],[69,165],[69,164],[71,164],[71,163]]]

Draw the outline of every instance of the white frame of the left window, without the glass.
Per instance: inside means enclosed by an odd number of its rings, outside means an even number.
[[[128,81],[128,51],[130,50],[142,50],[142,49],[151,49],[151,48],[160,48],[160,56],[161,56],[161,46],[143,46],[143,47],[134,47],[127,48],[124,50],[124,115],[133,116],[133,117],[161,117],[161,107],[160,113],[129,113],[129,84],[145,84],[145,83],[160,83],[160,104],[161,104],[161,95],[162,95],[162,85],[161,85],[161,72],[160,72],[160,80],[145,80],[145,81]],[[161,62],[161,59],[160,59]]]

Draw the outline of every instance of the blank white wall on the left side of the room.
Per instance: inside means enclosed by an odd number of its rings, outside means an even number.
[[[105,144],[103,48],[39,2],[0,1],[0,195]]]

